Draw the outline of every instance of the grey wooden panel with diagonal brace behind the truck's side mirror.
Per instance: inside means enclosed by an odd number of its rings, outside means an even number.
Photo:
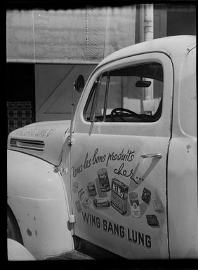
[[[86,81],[95,67],[96,65],[36,64],[36,121],[71,119],[73,93],[75,106],[81,95],[74,90],[73,83],[79,74]]]

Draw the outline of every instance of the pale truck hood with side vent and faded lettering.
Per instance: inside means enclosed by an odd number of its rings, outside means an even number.
[[[32,123],[8,135],[8,149],[38,156],[55,166],[62,159],[62,146],[69,135],[71,121]],[[66,135],[67,133],[67,135]]]

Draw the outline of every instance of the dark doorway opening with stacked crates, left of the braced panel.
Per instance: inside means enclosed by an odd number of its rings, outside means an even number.
[[[34,64],[7,64],[8,133],[35,121],[34,85]]]

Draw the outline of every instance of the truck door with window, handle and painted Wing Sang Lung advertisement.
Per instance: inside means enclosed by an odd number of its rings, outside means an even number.
[[[77,107],[71,148],[74,234],[129,259],[169,257],[172,90],[170,58],[145,53],[97,69]]]

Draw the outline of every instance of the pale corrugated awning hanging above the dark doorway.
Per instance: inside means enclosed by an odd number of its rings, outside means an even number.
[[[135,43],[136,6],[7,11],[7,62],[97,63]]]

